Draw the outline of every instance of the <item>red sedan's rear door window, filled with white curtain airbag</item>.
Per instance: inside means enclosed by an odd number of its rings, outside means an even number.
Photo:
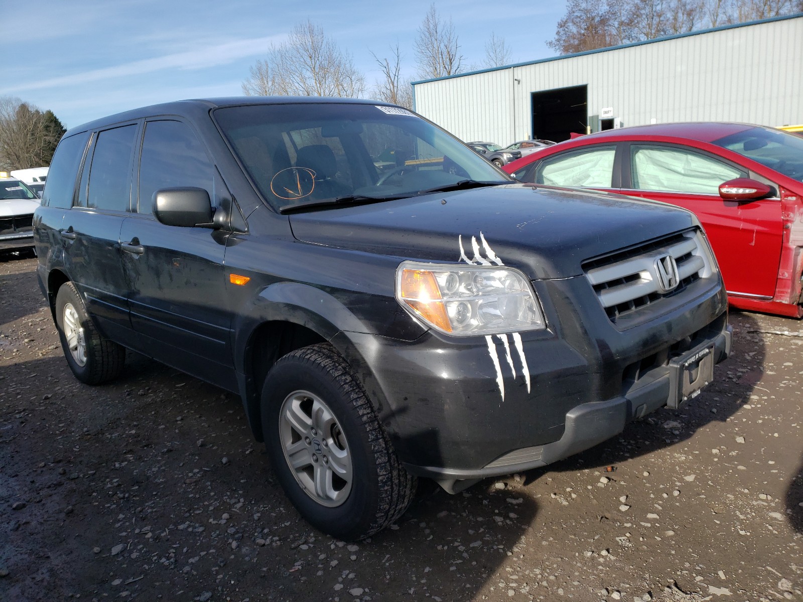
[[[536,184],[611,188],[615,146],[583,148],[541,161]]]

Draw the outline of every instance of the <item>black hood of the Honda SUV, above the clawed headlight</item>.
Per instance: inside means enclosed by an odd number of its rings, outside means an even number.
[[[303,242],[434,262],[490,248],[531,279],[581,275],[581,262],[697,225],[685,209],[610,193],[500,185],[289,216]],[[480,237],[482,234],[482,238]],[[472,241],[473,238],[473,241]],[[483,246],[484,238],[487,246]]]

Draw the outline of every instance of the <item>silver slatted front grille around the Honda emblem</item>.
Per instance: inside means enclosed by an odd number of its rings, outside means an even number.
[[[658,259],[671,256],[678,282],[666,291],[660,284]],[[703,235],[688,230],[646,245],[622,250],[583,264],[585,275],[611,321],[660,299],[676,295],[713,273],[713,260]]]

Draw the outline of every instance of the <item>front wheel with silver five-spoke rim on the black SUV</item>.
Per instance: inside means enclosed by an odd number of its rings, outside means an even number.
[[[332,345],[310,345],[276,362],[263,386],[262,424],[276,478],[320,531],[363,539],[410,506],[416,478]]]

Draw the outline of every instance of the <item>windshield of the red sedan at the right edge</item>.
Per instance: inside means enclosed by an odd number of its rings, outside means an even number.
[[[714,144],[803,181],[803,138],[776,129],[750,128],[714,140]]]

